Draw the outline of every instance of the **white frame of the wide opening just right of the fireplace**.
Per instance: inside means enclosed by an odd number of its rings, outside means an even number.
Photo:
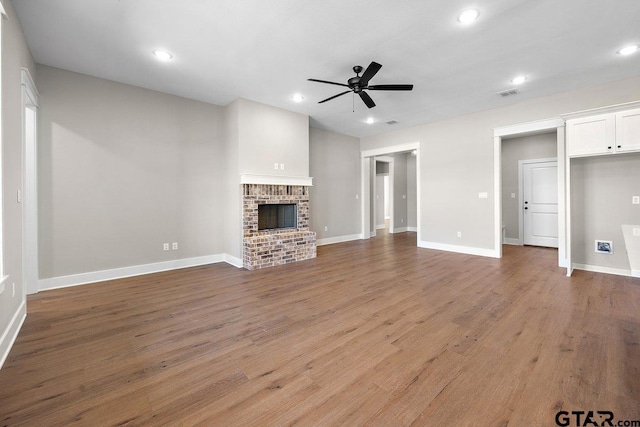
[[[386,154],[394,154],[394,153],[403,153],[406,151],[414,151],[416,152],[416,205],[417,205],[417,213],[416,213],[416,225],[417,225],[417,238],[416,238],[416,246],[420,246],[420,230],[421,226],[421,216],[420,216],[420,142],[410,142],[407,144],[399,144],[399,145],[390,145],[380,148],[373,148],[370,150],[362,150],[360,151],[360,189],[362,191],[362,197],[360,198],[360,212],[361,212],[361,236],[363,239],[368,239],[371,237],[371,200],[370,200],[370,190],[371,190],[371,162],[376,156],[383,156]],[[375,161],[373,164],[373,170],[375,171]],[[391,173],[391,167],[389,167],[389,173]],[[375,181],[375,180],[374,180]],[[391,178],[389,178],[389,186],[391,186]],[[390,189],[389,193],[393,191]],[[391,221],[389,221],[389,226],[391,226]]]

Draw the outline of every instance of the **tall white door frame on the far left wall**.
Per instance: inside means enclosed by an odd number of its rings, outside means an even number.
[[[27,294],[38,292],[38,90],[29,70],[21,70],[22,86],[22,277]],[[33,141],[27,141],[26,110],[34,112]],[[33,143],[32,147],[28,144]]]

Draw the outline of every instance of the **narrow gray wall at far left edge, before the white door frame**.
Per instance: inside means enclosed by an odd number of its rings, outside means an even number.
[[[2,19],[2,233],[3,274],[8,275],[0,295],[0,337],[11,318],[25,302],[22,278],[22,205],[16,191],[22,189],[22,87],[21,67],[36,77],[36,67],[27,47],[20,22],[9,0],[2,0],[7,19]],[[16,285],[15,297],[12,284]],[[8,342],[0,342],[0,358]]]

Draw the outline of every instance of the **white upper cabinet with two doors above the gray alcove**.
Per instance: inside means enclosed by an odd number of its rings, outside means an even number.
[[[569,157],[640,151],[640,109],[567,120]]]

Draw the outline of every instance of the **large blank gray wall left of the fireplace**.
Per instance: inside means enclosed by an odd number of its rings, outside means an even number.
[[[36,84],[40,278],[223,252],[221,107],[46,66]]]

